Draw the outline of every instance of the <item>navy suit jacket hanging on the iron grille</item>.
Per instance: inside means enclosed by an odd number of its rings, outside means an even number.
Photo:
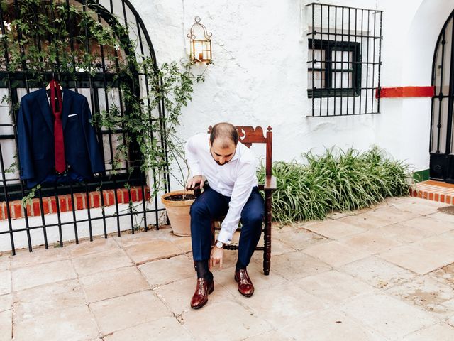
[[[63,89],[62,104],[65,159],[69,168],[89,179],[105,170],[104,161],[90,124],[87,98]],[[55,173],[54,117],[45,89],[26,94],[21,99],[17,119],[18,153],[21,179],[29,188]]]

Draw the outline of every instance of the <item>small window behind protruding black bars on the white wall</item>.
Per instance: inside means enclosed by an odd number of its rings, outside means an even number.
[[[309,117],[380,112],[382,11],[308,4]]]

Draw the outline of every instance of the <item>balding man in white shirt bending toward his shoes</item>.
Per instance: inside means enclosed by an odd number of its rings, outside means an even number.
[[[185,151],[192,178],[188,189],[204,186],[204,192],[191,207],[192,255],[197,271],[197,286],[191,307],[201,308],[214,290],[213,274],[216,264],[222,269],[223,247],[230,244],[241,220],[238,261],[235,280],[238,291],[246,297],[254,286],[246,271],[262,233],[265,212],[263,198],[258,192],[256,161],[248,147],[238,143],[238,131],[229,123],[218,123],[211,134],[197,134],[187,141]],[[225,215],[216,243],[211,248],[211,218]]]

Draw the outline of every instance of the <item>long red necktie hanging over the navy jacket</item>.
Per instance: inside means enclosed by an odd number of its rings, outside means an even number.
[[[50,81],[50,107],[54,114],[54,144],[55,144],[55,171],[63,173],[66,168],[65,162],[65,141],[63,141],[62,126],[62,90],[60,85],[55,81]],[[55,92],[57,92],[55,94]],[[56,96],[55,96],[56,95]],[[55,105],[55,97],[58,100],[58,107]]]

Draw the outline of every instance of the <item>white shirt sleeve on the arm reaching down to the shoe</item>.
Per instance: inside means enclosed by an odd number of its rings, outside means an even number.
[[[230,244],[233,234],[238,229],[241,211],[243,211],[243,207],[248,202],[250,193],[252,193],[253,187],[257,183],[255,167],[255,160],[250,160],[240,166],[238,178],[233,186],[231,200],[228,204],[228,212],[218,234],[218,240],[223,243]]]

